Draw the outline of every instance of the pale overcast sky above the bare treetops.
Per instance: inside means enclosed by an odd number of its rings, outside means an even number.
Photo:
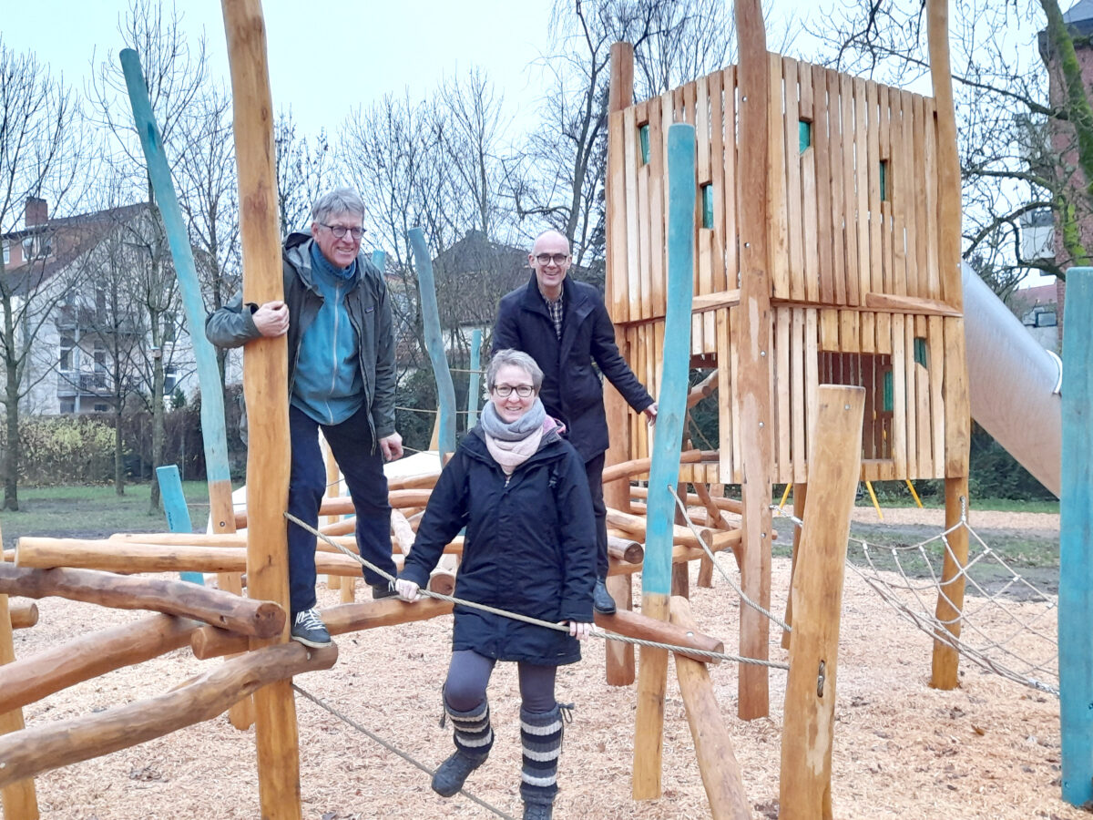
[[[834,1],[834,0],[832,0]],[[33,50],[56,77],[82,89],[91,56],[117,60],[119,16],[128,0],[35,0],[4,3],[0,37]],[[731,0],[730,0],[731,5]],[[814,0],[766,0],[768,28],[801,20]],[[531,67],[549,46],[550,0],[266,0],[273,105],[291,105],[306,131],[334,130],[360,104],[387,93],[428,95],[444,75],[486,69],[510,113],[528,113],[542,80]],[[221,4],[179,2],[191,44],[203,32],[213,75],[228,77]],[[773,45],[773,44],[772,44]],[[798,45],[800,45],[798,43]]]

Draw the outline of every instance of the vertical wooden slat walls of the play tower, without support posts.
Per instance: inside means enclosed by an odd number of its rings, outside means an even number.
[[[737,185],[736,77],[730,66],[609,117],[608,150],[625,173],[609,190],[624,208],[614,211],[608,297],[631,364],[655,395],[667,127],[696,128],[694,294],[724,301],[695,313],[691,351],[718,368],[721,455],[719,465],[684,465],[682,481],[740,481],[733,292],[738,214],[747,203]],[[933,101],[773,54],[771,78],[772,476],[808,481],[810,407],[821,383],[838,383],[866,388],[863,479],[943,478],[942,385],[953,320],[914,307],[915,300],[943,303]],[[707,203],[712,221],[704,220]],[[878,304],[874,296],[907,304]],[[630,446],[632,458],[648,455],[644,425],[632,426]]]

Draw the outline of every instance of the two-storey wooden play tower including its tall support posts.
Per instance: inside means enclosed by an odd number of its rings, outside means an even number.
[[[689,122],[691,365],[716,370],[719,423],[717,460],[682,465],[680,481],[741,487],[743,587],[763,606],[772,484],[792,484],[803,512],[807,455],[826,432],[820,385],[865,389],[861,480],[944,479],[950,525],[966,503],[960,175],[948,31],[930,7],[932,98],[767,52],[759,3],[737,3],[738,66],[660,96],[632,102],[633,49],[612,54],[607,302],[620,348],[659,395],[667,134]],[[609,464],[647,455],[643,425],[609,394]],[[609,504],[625,508],[626,494],[609,488]],[[961,596],[947,584],[939,616]],[[766,620],[742,608],[740,629],[741,654],[766,657]],[[955,675],[939,644],[933,684]],[[767,713],[764,669],[741,668],[739,711]]]

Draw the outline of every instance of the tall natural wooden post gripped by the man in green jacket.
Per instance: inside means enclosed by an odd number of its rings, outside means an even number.
[[[243,298],[284,297],[274,172],[273,101],[259,0],[222,0],[235,101]],[[247,593],[289,607],[289,358],[284,337],[256,339],[244,353],[247,452]],[[287,624],[280,641],[287,641]],[[251,641],[259,648],[269,641]],[[230,661],[232,663],[232,661]],[[255,693],[258,794],[263,820],[299,820],[299,738],[291,679]]]

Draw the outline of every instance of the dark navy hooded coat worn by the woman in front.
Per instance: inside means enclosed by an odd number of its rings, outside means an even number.
[[[445,544],[466,527],[457,598],[553,623],[590,623],[596,528],[579,456],[552,431],[506,483],[482,436],[472,430],[440,473],[399,577],[424,587]],[[566,632],[458,605],[451,643],[497,660],[580,659]]]

